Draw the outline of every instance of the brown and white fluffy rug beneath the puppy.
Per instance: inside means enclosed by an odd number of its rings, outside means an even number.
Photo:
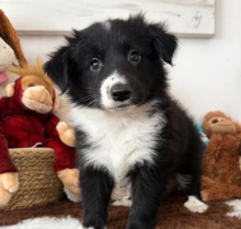
[[[125,228],[128,211],[129,208],[127,207],[110,206],[108,229]],[[208,211],[199,215],[185,209],[183,198],[174,196],[169,197],[162,204],[156,229],[240,229],[241,220],[239,217],[241,218],[241,201],[231,201],[228,202],[228,205],[223,202],[210,203]],[[62,199],[32,209],[0,211],[0,225],[3,226],[0,228],[76,229],[81,218],[80,204]]]

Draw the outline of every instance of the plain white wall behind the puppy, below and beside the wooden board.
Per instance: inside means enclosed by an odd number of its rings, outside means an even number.
[[[217,0],[216,35],[210,39],[181,39],[175,66],[169,68],[173,94],[197,122],[213,110],[241,122],[241,1]],[[30,60],[55,50],[62,37],[22,36]]]

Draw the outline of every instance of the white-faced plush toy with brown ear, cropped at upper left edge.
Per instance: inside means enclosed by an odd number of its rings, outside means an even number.
[[[24,64],[19,37],[8,18],[0,10],[0,96],[5,95],[5,85],[18,79],[13,72],[8,72],[8,67],[14,64]]]

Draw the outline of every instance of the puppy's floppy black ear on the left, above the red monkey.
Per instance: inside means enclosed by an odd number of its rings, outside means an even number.
[[[49,78],[65,92],[69,87],[69,55],[68,46],[59,48],[44,65],[44,70]]]

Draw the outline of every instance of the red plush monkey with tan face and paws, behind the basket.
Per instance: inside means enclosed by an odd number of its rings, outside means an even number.
[[[19,188],[18,169],[8,148],[49,147],[55,150],[55,171],[67,195],[79,201],[79,171],[71,129],[53,115],[58,108],[53,82],[42,64],[14,68],[20,78],[7,87],[8,96],[0,99],[0,205],[8,203]],[[72,130],[73,131],[73,130]],[[77,199],[78,198],[78,199]]]

